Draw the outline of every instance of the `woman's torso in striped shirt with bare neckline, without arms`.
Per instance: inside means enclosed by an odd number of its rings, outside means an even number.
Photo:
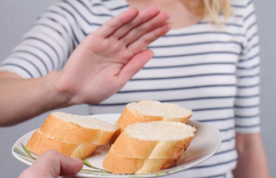
[[[147,6],[138,4],[142,1],[128,2],[127,7],[143,10],[153,1],[147,1]],[[203,165],[229,159],[231,162],[224,170],[219,166],[202,168],[186,171],[181,176],[201,177],[212,175],[210,170],[214,169],[221,172],[231,170],[237,157],[233,107],[237,92],[236,65],[242,50],[243,35],[237,27],[226,25],[220,28],[199,19],[180,1],[162,9],[171,11],[173,29],[148,46],[154,52],[152,60],[119,93],[100,105],[91,105],[90,113],[120,113],[125,104],[141,99],[172,102],[192,108],[192,119],[216,126],[222,131],[224,140],[219,154]],[[242,23],[239,18],[229,21]]]

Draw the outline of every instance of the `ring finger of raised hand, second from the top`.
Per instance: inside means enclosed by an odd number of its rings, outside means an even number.
[[[123,25],[121,28],[118,28],[116,32],[112,35],[113,37],[120,39],[125,36],[132,28],[139,26],[140,24],[152,19],[155,17],[160,10],[155,7],[149,7],[139,15],[137,15],[133,20],[129,21],[127,24]]]

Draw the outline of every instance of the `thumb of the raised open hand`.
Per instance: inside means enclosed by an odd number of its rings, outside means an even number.
[[[153,52],[150,49],[146,49],[134,55],[134,57],[124,66],[119,73],[118,77],[121,81],[121,85],[130,80],[145,64],[152,58]]]

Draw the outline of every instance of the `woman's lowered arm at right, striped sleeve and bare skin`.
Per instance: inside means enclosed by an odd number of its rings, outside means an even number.
[[[235,177],[269,177],[260,137],[260,48],[254,3],[246,1],[244,41],[237,63],[235,129],[238,164]]]

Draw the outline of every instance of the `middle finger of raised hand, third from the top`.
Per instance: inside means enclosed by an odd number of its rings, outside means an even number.
[[[169,20],[169,18],[170,18],[170,15],[167,12],[160,12],[157,16],[155,16],[148,22],[133,28],[126,36],[121,38],[121,40],[125,44],[133,43],[144,34],[164,24],[167,20]]]

